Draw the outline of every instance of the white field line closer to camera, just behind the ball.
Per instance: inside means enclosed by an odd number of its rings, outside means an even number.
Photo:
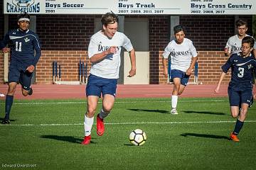
[[[227,121],[227,120],[219,120],[219,121],[195,121],[195,122],[140,122],[140,123],[105,123],[105,125],[142,125],[142,124],[154,124],[154,125],[166,125],[166,124],[208,124],[208,123],[235,123],[236,121]],[[246,120],[246,123],[256,123],[256,120]],[[70,124],[21,124],[21,125],[0,125],[0,126],[75,126],[75,125],[83,125],[83,123],[70,123]]]

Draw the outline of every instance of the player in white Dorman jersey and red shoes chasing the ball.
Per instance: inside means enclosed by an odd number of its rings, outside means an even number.
[[[90,144],[94,115],[101,95],[102,109],[97,114],[97,135],[101,136],[105,131],[103,120],[114,106],[122,47],[129,52],[131,60],[132,68],[128,77],[136,74],[135,51],[129,38],[117,31],[118,16],[114,13],[105,13],[101,22],[102,30],[92,35],[88,47],[88,57],[92,62],[92,67],[86,86],[87,112],[85,113],[85,137],[82,145]]]

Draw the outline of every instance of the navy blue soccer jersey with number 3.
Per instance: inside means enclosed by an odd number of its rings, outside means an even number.
[[[221,68],[225,73],[231,68],[230,84],[252,87],[252,73],[256,71],[256,60],[253,55],[244,58],[240,53],[233,54]]]

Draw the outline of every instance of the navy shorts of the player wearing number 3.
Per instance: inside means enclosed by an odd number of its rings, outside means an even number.
[[[252,100],[252,89],[247,89],[245,91],[235,91],[228,87],[228,97],[230,106],[240,106],[241,103],[247,103],[250,105]]]

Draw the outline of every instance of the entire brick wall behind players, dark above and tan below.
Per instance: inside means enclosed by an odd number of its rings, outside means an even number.
[[[0,2],[0,4],[2,1]],[[2,13],[2,9],[0,8]],[[9,15],[9,29],[16,28],[16,16]],[[4,37],[4,16],[0,16],[1,39]],[[36,83],[52,84],[52,62],[62,65],[63,81],[78,81],[78,62],[87,61],[87,46],[94,33],[95,15],[38,15],[36,33],[41,39],[42,56],[37,65]],[[142,16],[126,16],[142,17]],[[169,16],[143,16],[149,18],[149,82],[164,84],[161,54],[169,42]],[[252,28],[252,16],[242,16]],[[186,38],[193,40],[199,52],[199,81],[216,84],[220,76],[220,65],[226,58],[223,47],[234,35],[235,16],[180,16],[180,23],[186,28]],[[252,33],[248,30],[247,33]],[[0,65],[3,66],[0,53]],[[4,81],[4,68],[0,67],[0,82]],[[87,71],[90,69],[90,63]],[[191,77],[193,80],[193,76]],[[229,76],[224,83],[227,84]]]

